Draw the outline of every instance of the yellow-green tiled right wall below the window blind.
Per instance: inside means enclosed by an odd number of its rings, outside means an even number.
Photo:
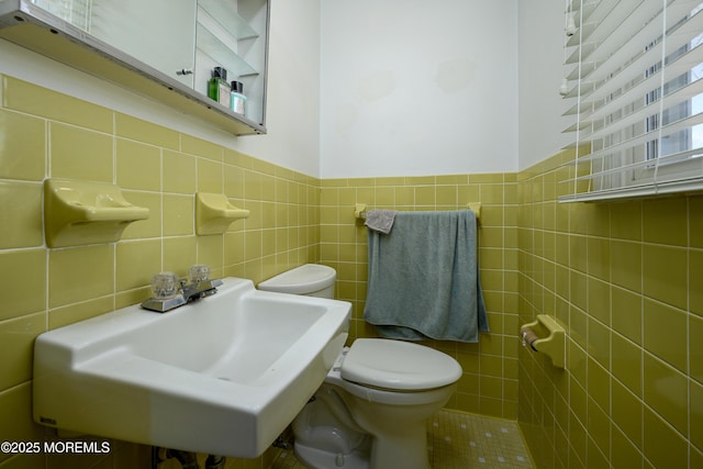
[[[703,467],[703,197],[560,204],[572,157],[518,174],[520,321],[568,331],[566,370],[520,347],[525,439],[539,468]]]

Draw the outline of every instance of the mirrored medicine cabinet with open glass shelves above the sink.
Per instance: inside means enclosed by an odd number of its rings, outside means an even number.
[[[266,133],[268,0],[0,0],[0,37],[202,119]],[[244,113],[208,96],[215,67]]]

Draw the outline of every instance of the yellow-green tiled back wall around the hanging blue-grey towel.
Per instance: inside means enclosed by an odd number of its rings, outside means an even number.
[[[370,209],[458,210],[481,202],[480,275],[490,334],[478,344],[428,340],[464,368],[447,407],[516,418],[517,182],[515,174],[325,179],[320,197],[320,259],[337,270],[336,295],[354,304],[352,338],[375,337],[364,322],[367,230],[356,203]]]

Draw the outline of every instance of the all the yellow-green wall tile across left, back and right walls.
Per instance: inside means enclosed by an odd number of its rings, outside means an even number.
[[[304,263],[338,272],[337,297],[361,320],[369,209],[483,204],[481,281],[491,334],[431,342],[465,373],[448,406],[518,418],[540,468],[703,467],[703,197],[559,204],[568,152],[520,174],[320,181],[3,76],[0,98],[0,435],[43,438],[31,420],[32,344],[42,332],[148,295],[158,270],[194,263],[255,281]],[[114,182],[150,217],[105,245],[47,249],[42,181]],[[252,211],[223,235],[196,236],[197,190]],[[86,273],[80,273],[86,272]],[[555,315],[568,330],[567,370],[520,346],[521,323]],[[520,388],[518,388],[520,383]],[[115,442],[90,465],[132,466],[142,446]],[[232,467],[264,468],[270,455]],[[77,467],[10,457],[0,466]],[[83,464],[83,460],[80,462]],[[86,462],[88,464],[88,462]]]

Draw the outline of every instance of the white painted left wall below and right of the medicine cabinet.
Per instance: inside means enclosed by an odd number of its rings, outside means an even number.
[[[272,1],[270,29],[267,135],[234,137],[3,40],[0,74],[319,176],[320,0]]]

